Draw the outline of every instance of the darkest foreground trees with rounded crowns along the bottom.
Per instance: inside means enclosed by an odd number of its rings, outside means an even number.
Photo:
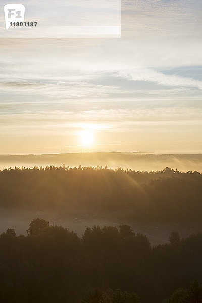
[[[151,247],[128,225],[88,227],[79,238],[34,219],[27,236],[0,235],[0,301],[201,303],[201,252],[201,232],[180,239],[174,231]]]

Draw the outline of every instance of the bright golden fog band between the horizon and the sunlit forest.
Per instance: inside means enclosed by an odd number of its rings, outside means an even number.
[[[115,169],[122,167],[136,171],[162,170],[165,167],[179,171],[202,172],[202,154],[146,154],[146,153],[72,153],[46,155],[0,155],[0,169],[12,167],[69,167],[97,165]]]

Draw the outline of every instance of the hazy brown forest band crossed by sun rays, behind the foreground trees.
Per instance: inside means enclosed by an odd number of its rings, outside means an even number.
[[[57,210],[155,222],[193,222],[202,215],[202,174],[107,167],[0,171],[0,207]]]

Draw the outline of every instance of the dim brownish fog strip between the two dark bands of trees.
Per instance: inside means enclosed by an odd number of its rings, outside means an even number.
[[[152,245],[165,244],[168,242],[171,231],[178,231],[182,238],[186,238],[190,234],[202,231],[202,223],[139,223],[129,220],[118,220],[109,218],[85,218],[63,217],[53,212],[37,212],[37,211],[14,211],[1,209],[0,215],[0,233],[5,232],[8,228],[14,228],[17,235],[26,235],[26,230],[29,228],[31,220],[35,218],[45,219],[51,225],[61,225],[70,231],[75,231],[79,236],[82,236],[86,227],[93,225],[115,226],[128,224],[132,227],[135,233],[145,234]]]

